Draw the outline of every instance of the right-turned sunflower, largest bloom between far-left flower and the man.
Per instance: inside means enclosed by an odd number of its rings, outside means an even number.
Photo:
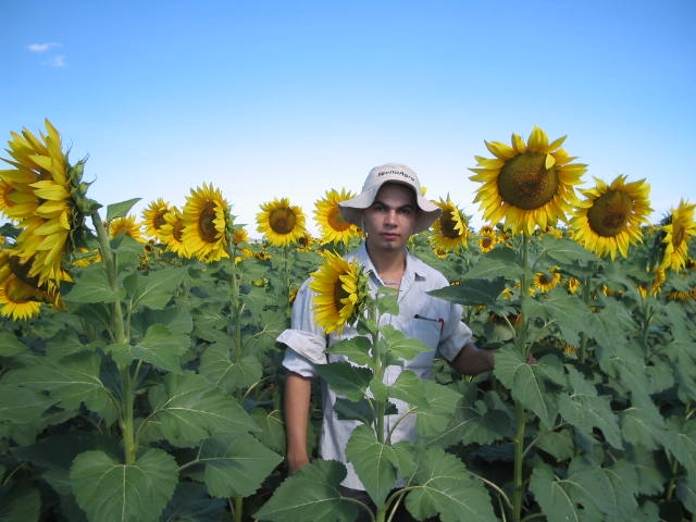
[[[228,258],[227,236],[232,229],[232,215],[227,201],[212,185],[191,189],[184,206],[182,240],[186,252],[204,262]]]

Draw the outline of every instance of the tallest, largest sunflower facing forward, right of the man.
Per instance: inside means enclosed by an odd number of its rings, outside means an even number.
[[[470,177],[483,185],[474,201],[480,202],[484,220],[498,223],[505,220],[513,234],[532,234],[536,226],[546,228],[558,220],[566,221],[566,212],[575,202],[574,185],[581,183],[586,166],[571,163],[561,145],[566,137],[548,142],[544,130],[533,127],[529,140],[512,134],[512,146],[500,141],[485,141],[495,158],[475,157],[477,169]]]

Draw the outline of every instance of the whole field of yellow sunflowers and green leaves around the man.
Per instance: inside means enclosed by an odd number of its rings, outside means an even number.
[[[159,199],[135,215],[137,199],[89,199],[86,162],[71,162],[48,120],[38,136],[11,132],[0,520],[355,520],[343,464],[316,459],[289,475],[284,462],[276,337],[312,273],[336,276],[322,296],[332,327],[364,321],[371,339],[344,346],[355,365],[323,376],[346,398],[341,414],[364,421],[346,452],[375,521],[399,504],[443,522],[693,520],[696,204],[675,201],[650,223],[645,179],[581,189],[587,165],[563,144],[538,127],[485,141],[492,157],[475,157],[471,179],[488,224],[474,231],[447,195],[411,238],[450,282],[436,295],[497,350],[495,369],[463,377],[436,360],[433,381],[386,386],[385,361],[419,347],[338,299],[360,288],[338,283],[355,274],[338,256],[361,240],[338,213],[352,192],[316,201],[320,237],[287,198],[260,202],[251,240],[211,185],[181,209]],[[375,437],[389,398],[413,405],[415,444]]]

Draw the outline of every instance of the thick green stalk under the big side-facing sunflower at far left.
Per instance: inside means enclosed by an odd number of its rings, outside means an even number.
[[[109,234],[104,228],[99,212],[95,211],[91,214],[91,221],[97,232],[97,239],[99,240],[99,250],[101,252],[101,259],[107,272],[107,278],[109,287],[115,294],[119,291],[119,270],[116,266],[116,259],[114,252],[111,250],[111,243],[109,240]],[[111,308],[111,327],[113,330],[113,340],[117,345],[128,344],[128,336],[123,320],[123,309],[121,307],[121,299],[115,299]],[[134,401],[135,391],[133,389],[133,377],[128,364],[119,364],[119,372],[121,373],[121,386],[123,388],[123,408],[121,409],[121,431],[123,434],[123,451],[124,461],[126,464],[134,464],[136,461],[137,444],[135,437],[135,419],[134,419]]]

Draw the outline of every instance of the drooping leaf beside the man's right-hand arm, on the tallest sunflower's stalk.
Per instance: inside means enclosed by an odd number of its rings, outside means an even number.
[[[543,364],[543,360],[537,364],[527,364],[519,350],[511,346],[504,346],[496,353],[493,373],[511,390],[515,400],[533,411],[542,424],[550,430],[558,415],[557,394],[547,390],[542,378],[537,376],[536,372],[543,370],[536,370],[534,366],[539,364]]]

